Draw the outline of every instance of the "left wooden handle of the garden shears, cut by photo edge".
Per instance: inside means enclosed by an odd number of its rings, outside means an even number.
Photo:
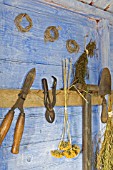
[[[2,144],[14,117],[14,110],[9,110],[0,126],[0,145]]]

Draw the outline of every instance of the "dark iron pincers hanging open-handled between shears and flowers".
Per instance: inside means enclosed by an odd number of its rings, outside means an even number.
[[[54,76],[52,76],[52,78],[54,79],[53,86],[52,86],[52,96],[53,96],[52,101],[50,99],[50,95],[49,95],[49,91],[48,91],[47,80],[45,78],[42,79],[42,85],[43,85],[43,89],[44,89],[44,105],[46,107],[45,117],[49,123],[53,123],[53,121],[55,119],[55,112],[54,112],[53,107],[56,104],[57,79]]]

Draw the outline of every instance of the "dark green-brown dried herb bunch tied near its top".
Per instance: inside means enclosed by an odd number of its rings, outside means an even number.
[[[84,53],[79,57],[79,59],[75,63],[75,77],[70,90],[75,90],[75,88],[73,88],[73,85],[76,83],[81,83],[83,85],[86,85],[85,76],[87,73],[88,57],[94,56],[95,49],[96,49],[96,42],[90,41],[86,46]]]

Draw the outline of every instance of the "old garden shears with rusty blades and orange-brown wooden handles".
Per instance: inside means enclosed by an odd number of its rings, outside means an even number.
[[[18,95],[18,99],[16,103],[13,105],[11,110],[6,114],[1,126],[0,126],[0,145],[2,144],[2,141],[4,140],[14,117],[14,110],[18,108],[20,110],[20,114],[16,123],[15,132],[14,132],[14,140],[13,140],[13,146],[11,152],[14,154],[19,153],[19,146],[20,141],[22,138],[23,130],[24,130],[24,122],[25,122],[25,113],[23,109],[23,104],[26,99],[27,94],[29,93],[29,89],[32,86],[32,83],[34,81],[36,75],[35,68],[31,69],[24,81],[23,87],[21,89],[21,92]]]

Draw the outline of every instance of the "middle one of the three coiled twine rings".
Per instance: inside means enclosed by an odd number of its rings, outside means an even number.
[[[53,35],[52,35],[53,33]],[[54,42],[55,40],[57,40],[59,38],[59,32],[58,29],[55,26],[49,26],[44,33],[44,41],[50,41],[50,42]]]

